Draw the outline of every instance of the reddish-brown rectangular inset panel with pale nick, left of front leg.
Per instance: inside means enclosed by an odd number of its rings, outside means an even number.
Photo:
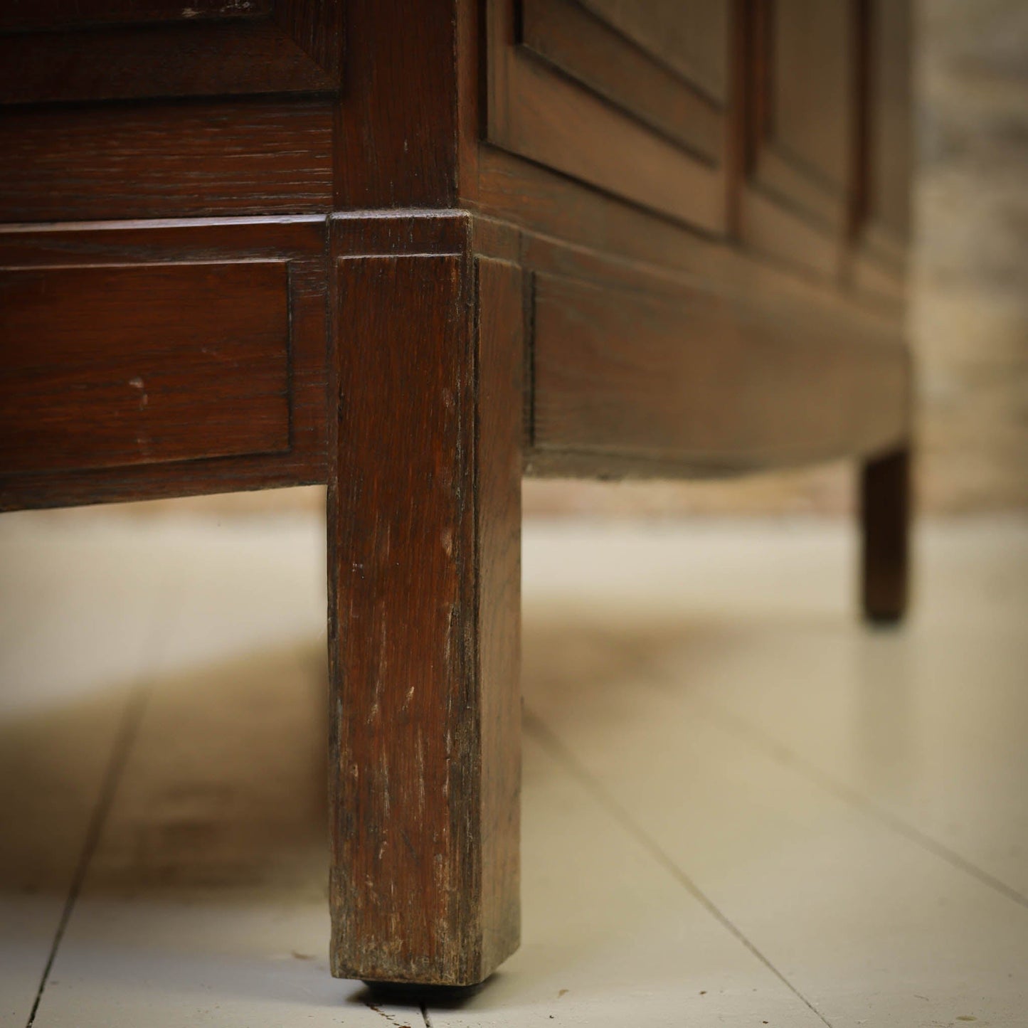
[[[0,472],[289,448],[286,264],[0,271]]]

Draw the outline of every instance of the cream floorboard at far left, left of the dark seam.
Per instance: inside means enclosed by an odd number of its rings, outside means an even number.
[[[0,1024],[28,1021],[156,626],[149,540],[0,518]],[[159,563],[159,562],[158,562]]]

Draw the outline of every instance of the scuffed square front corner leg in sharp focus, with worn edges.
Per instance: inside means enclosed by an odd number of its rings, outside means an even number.
[[[335,274],[332,972],[470,985],[519,935],[519,272]]]

